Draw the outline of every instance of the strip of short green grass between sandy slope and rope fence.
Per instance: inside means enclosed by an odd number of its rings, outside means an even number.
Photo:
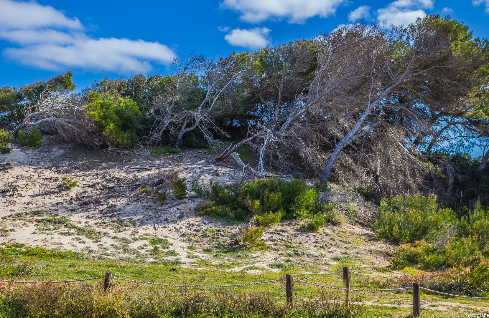
[[[7,251],[11,249],[25,249],[20,245],[3,245],[1,250]],[[252,265],[252,260],[249,260],[251,264],[244,268],[241,272],[223,272],[222,270],[227,270],[234,266],[245,265],[246,262],[226,262],[218,261],[216,266],[210,268],[209,261],[204,261],[201,259],[196,259],[194,263],[204,266],[204,269],[194,269],[186,268],[180,266],[180,261],[176,260],[165,260],[164,258],[158,259],[156,261],[145,261],[138,260],[137,256],[134,258],[125,257],[124,259],[97,259],[89,254],[74,254],[69,252],[61,251],[49,251],[42,248],[28,248],[26,251],[28,253],[23,253],[20,255],[8,255],[2,253],[0,255],[0,276],[4,279],[10,279],[13,273],[15,273],[15,267],[26,261],[30,261],[34,269],[37,270],[36,273],[26,276],[25,280],[36,280],[36,279],[52,279],[52,280],[65,280],[65,279],[81,279],[96,276],[103,276],[106,272],[111,272],[113,276],[118,276],[127,279],[146,281],[148,278],[152,282],[160,282],[167,284],[200,284],[200,285],[228,285],[228,284],[239,284],[246,282],[257,282],[271,279],[283,278],[286,273],[293,274],[295,277],[307,277],[306,281],[311,281],[314,283],[324,284],[328,286],[343,287],[342,279],[336,275],[318,274],[319,269],[316,269],[315,274],[304,275],[303,268],[298,266],[290,266],[289,262],[271,262],[270,264],[275,264],[272,267],[275,271],[267,270],[264,267],[257,267]],[[34,251],[41,253],[33,253]],[[51,258],[52,257],[52,258]],[[301,256],[302,257],[302,256]],[[211,257],[212,258],[212,257]],[[234,258],[238,260],[238,258]],[[42,272],[39,268],[42,266]],[[294,262],[296,260],[294,259]],[[279,264],[287,264],[285,266],[280,266]],[[169,271],[172,267],[177,268],[177,271]],[[214,268],[216,270],[214,270]],[[251,274],[247,271],[259,270],[258,274]],[[368,284],[362,283],[365,279],[364,276],[352,276],[351,287],[352,288],[378,288],[378,284],[386,281],[387,278],[381,276],[375,276],[378,281],[374,281]],[[124,288],[133,286],[131,282],[117,281],[114,283],[120,284]],[[74,283],[83,284],[83,283]],[[97,285],[99,282],[94,282]],[[362,285],[363,284],[363,285]],[[142,288],[142,284],[140,284]],[[362,286],[362,287],[360,287]],[[70,287],[73,288],[73,287]],[[139,288],[139,295],[141,295],[142,289]],[[385,287],[388,288],[388,287]],[[241,286],[229,289],[233,293],[235,292],[264,292],[269,295],[273,295],[277,300],[283,301],[283,286],[281,287],[280,282],[267,283],[251,286]],[[320,293],[320,288],[314,287],[301,282],[294,281],[294,293],[297,297],[303,298],[315,298]],[[177,293],[178,289],[169,287],[157,287],[147,285],[145,288],[145,293],[151,295],[152,293],[163,293],[171,292]],[[344,295],[342,292],[335,292],[328,290],[333,294]],[[4,295],[4,293],[2,293]],[[342,296],[343,297],[343,296]],[[412,295],[409,292],[402,292],[399,294],[387,294],[387,293],[361,293],[361,292],[351,292],[351,297],[360,297],[358,300],[371,300],[379,304],[382,303],[406,303],[410,304],[412,301]],[[457,303],[472,304],[478,306],[487,306],[484,300],[474,300],[474,299],[452,299],[450,297],[444,297],[441,295],[431,295],[422,292],[422,299],[431,302],[434,301],[450,301]],[[448,300],[447,300],[448,299]],[[433,307],[436,309],[436,307]],[[407,317],[407,312],[409,308],[397,308],[388,306],[374,306],[368,307],[365,317]],[[436,316],[432,311],[423,310],[424,317],[440,317]],[[374,314],[377,314],[375,316]],[[404,314],[406,314],[404,316]],[[91,315],[91,314],[90,314]],[[397,316],[401,315],[401,316]],[[1,316],[0,316],[1,317]],[[5,316],[9,317],[9,316]],[[14,317],[14,316],[11,316]],[[15,316],[17,317],[17,316]],[[45,316],[38,316],[45,317]],[[65,316],[60,316],[65,317]],[[82,317],[82,316],[80,316]],[[85,317],[85,316],[83,316]],[[223,317],[223,316],[222,316]],[[231,316],[229,316],[231,317]]]

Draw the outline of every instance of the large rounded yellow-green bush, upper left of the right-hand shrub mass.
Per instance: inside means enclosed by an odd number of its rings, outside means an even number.
[[[372,230],[398,243],[436,237],[456,221],[451,209],[438,209],[436,199],[436,195],[425,197],[421,193],[383,198]]]

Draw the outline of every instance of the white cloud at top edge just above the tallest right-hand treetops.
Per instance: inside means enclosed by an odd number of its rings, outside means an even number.
[[[377,10],[378,21],[386,21],[388,24],[404,25],[424,18],[426,12],[422,9],[432,9],[433,0],[397,0],[391,2],[387,7]]]

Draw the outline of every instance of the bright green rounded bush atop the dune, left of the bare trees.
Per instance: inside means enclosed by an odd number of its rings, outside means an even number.
[[[131,99],[103,98],[98,92],[88,95],[87,116],[98,122],[100,129],[111,143],[118,147],[130,148],[137,145],[139,137],[136,130],[140,128],[138,119],[141,111]]]

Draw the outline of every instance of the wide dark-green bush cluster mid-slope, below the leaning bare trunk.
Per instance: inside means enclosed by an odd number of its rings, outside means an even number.
[[[210,216],[245,220],[271,212],[291,219],[308,217],[317,211],[317,192],[304,180],[293,178],[242,180],[225,186],[211,184],[210,187],[195,183],[192,189],[201,197],[211,199],[203,210]]]

